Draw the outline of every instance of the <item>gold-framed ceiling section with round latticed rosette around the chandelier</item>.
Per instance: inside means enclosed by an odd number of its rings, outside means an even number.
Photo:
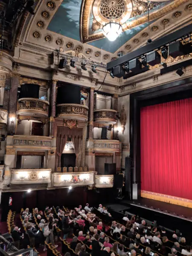
[[[102,39],[102,26],[113,20],[122,25],[122,31],[133,29],[148,22],[148,9],[138,9],[140,0],[83,0],[80,15],[80,38],[82,43]],[[148,1],[143,0],[145,5]],[[174,0],[151,1],[149,20],[152,22],[165,15],[165,6],[174,8]],[[170,9],[170,10],[171,10]]]

